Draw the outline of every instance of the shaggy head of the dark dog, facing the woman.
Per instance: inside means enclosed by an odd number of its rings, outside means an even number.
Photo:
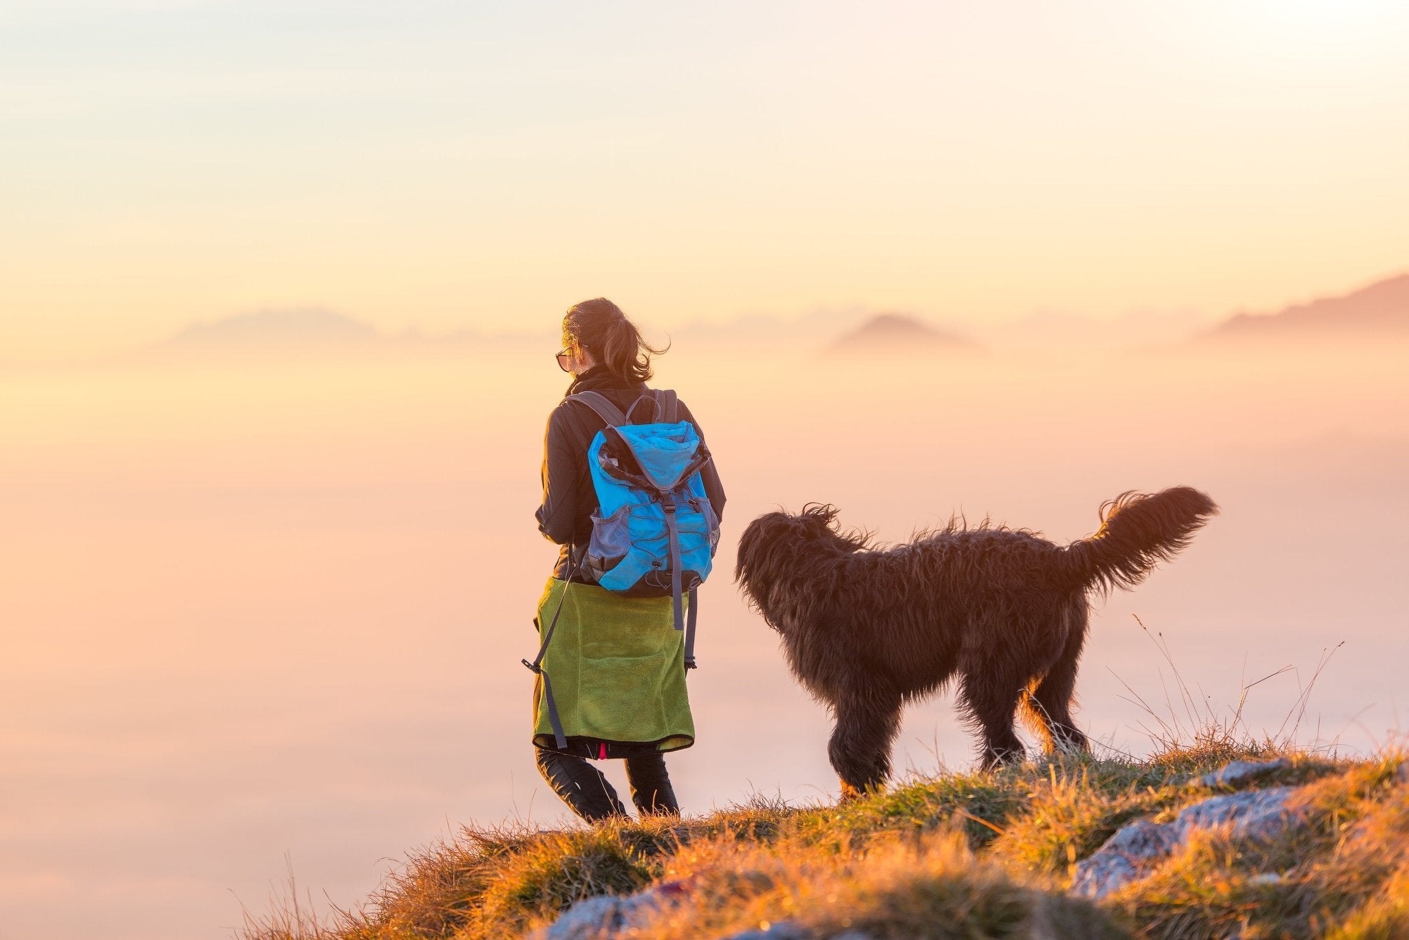
[[[781,605],[793,596],[796,582],[817,576],[819,555],[865,545],[865,533],[838,531],[837,507],[830,503],[807,503],[800,513],[764,513],[738,538],[734,581],[768,626],[781,631]]]

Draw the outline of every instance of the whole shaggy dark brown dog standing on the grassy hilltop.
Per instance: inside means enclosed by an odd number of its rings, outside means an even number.
[[[1110,500],[1100,531],[1065,547],[951,520],[878,550],[838,531],[833,506],[812,505],[751,521],[734,578],[782,634],[793,675],[830,706],[827,754],[850,798],[889,777],[902,706],[954,675],[985,768],[1022,758],[1014,712],[1045,750],[1088,750],[1071,720],[1088,595],[1140,583],[1216,512],[1177,486]]]

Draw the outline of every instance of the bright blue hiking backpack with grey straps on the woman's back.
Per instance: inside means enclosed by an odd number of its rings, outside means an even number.
[[[626,414],[599,392],[579,392],[568,400],[589,406],[607,424],[588,445],[588,472],[600,509],[592,514],[582,565],[607,590],[671,596],[675,629],[685,630],[685,668],[693,669],[697,588],[719,547],[719,517],[700,479],[709,448],[695,426],[676,420],[675,392],[647,392]],[[651,403],[655,421],[633,424],[643,402]]]

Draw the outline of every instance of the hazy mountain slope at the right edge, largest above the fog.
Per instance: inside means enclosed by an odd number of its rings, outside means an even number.
[[[1337,297],[1319,297],[1277,313],[1239,313],[1206,340],[1365,338],[1409,335],[1409,273],[1377,280]]]

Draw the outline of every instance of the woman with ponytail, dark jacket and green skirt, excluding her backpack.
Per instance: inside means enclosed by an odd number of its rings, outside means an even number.
[[[534,688],[534,744],[538,771],[578,816],[595,822],[627,816],[612,784],[586,757],[626,758],[631,802],[641,813],[679,813],[664,753],[689,747],[695,724],[685,691],[683,643],[675,629],[671,598],[633,598],[609,592],[585,571],[582,555],[599,509],[588,472],[588,445],[606,421],[582,400],[597,392],[623,414],[647,395],[651,355],[635,326],[610,300],[583,300],[562,320],[558,366],[573,376],[564,402],[548,417],[544,440],[542,506],[538,530],[562,545],[552,578],[538,602],[538,630],[551,634],[541,650]],[[655,420],[654,402],[643,402],[635,423]],[[676,416],[703,433],[685,403]],[[716,516],[724,489],[713,461],[700,469]],[[561,716],[552,734],[547,674]],[[557,740],[565,740],[558,747]]]

